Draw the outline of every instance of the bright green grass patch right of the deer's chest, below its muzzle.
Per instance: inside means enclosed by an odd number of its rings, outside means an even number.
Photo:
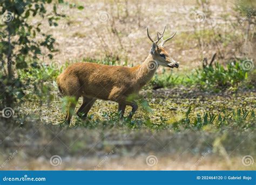
[[[202,90],[219,92],[227,88],[235,90],[241,83],[246,82],[248,71],[242,67],[242,60],[232,61],[227,66],[218,62],[213,66],[197,68],[194,73],[186,76],[182,73],[167,73],[165,69],[161,74],[156,74],[150,81],[151,88],[173,87],[178,85],[199,87]],[[249,80],[250,81],[250,80]],[[248,87],[254,87],[253,84],[244,83]]]

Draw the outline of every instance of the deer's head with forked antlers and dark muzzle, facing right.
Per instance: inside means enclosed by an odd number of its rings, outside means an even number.
[[[166,26],[165,26],[165,28],[166,28]],[[149,37],[149,39],[152,42],[150,54],[152,55],[152,58],[157,61],[158,65],[165,66],[165,67],[171,67],[171,68],[173,68],[173,67],[178,68],[179,63],[177,61],[173,60],[172,57],[170,57],[170,55],[164,49],[164,44],[168,40],[173,38],[175,36],[176,32],[171,37],[164,40],[163,36],[164,36],[165,28],[162,33],[157,32],[157,40],[156,41],[154,41],[150,37],[149,28],[147,28],[147,37]],[[159,42],[160,39],[161,39],[161,43],[159,45],[157,45],[157,43]]]

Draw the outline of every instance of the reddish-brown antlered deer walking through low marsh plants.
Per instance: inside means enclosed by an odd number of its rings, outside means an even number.
[[[166,28],[166,26],[165,26]],[[164,28],[164,31],[165,31]],[[129,100],[130,95],[138,94],[139,90],[153,77],[159,65],[165,67],[179,67],[165,51],[164,44],[174,37],[163,39],[164,31],[157,32],[157,40],[153,40],[147,28],[147,37],[152,42],[149,56],[144,62],[135,67],[108,66],[96,63],[75,63],[70,65],[57,78],[59,92],[68,97],[83,97],[83,104],[78,109],[79,117],[87,117],[92,105],[97,99],[118,102],[118,112],[123,117],[125,107],[132,107],[129,118],[138,109],[134,100]],[[157,43],[161,39],[161,43]],[[76,102],[68,105],[65,121],[70,124]]]

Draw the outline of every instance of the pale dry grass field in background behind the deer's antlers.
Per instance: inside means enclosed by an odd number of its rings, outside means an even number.
[[[180,61],[179,70],[197,66],[204,57],[217,52],[217,59],[247,54],[240,46],[245,43],[246,25],[236,26],[234,2],[211,1],[200,5],[196,1],[71,1],[84,5],[84,10],[59,5],[67,15],[59,26],[44,26],[57,39],[59,52],[54,60],[65,63],[85,58],[118,57],[129,65],[141,63],[150,50],[146,26],[153,35],[167,25],[166,37],[177,31],[177,36],[166,45],[171,56]],[[204,12],[203,19],[192,9]],[[199,19],[199,20],[198,20]],[[197,22],[198,20],[198,22]],[[37,22],[37,20],[32,20]],[[46,21],[43,25],[46,25]],[[233,26],[235,29],[233,29]],[[252,41],[252,40],[251,40]],[[252,48],[251,48],[252,47]],[[48,59],[44,59],[47,63]],[[122,62],[121,62],[122,64]]]

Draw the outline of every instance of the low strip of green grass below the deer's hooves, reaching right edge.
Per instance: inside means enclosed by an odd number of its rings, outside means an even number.
[[[93,114],[86,121],[76,119],[75,127],[85,128],[121,128],[121,129],[150,129],[162,130],[171,129],[174,131],[183,131],[185,129],[217,131],[218,129],[253,129],[255,127],[255,113],[253,109],[237,108],[231,111],[223,109],[221,113],[203,112],[197,114],[196,117],[192,114],[192,108],[188,108],[184,115],[177,119],[166,120],[160,117],[160,122],[156,124],[151,121],[150,117],[142,119],[129,120],[124,118],[119,119],[117,113],[103,113],[102,119],[95,119]]]

